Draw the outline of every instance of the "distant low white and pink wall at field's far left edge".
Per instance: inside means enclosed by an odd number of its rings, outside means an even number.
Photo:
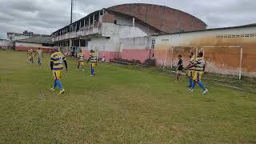
[[[38,43],[27,43],[27,42],[15,42],[15,50],[17,51],[27,51],[29,49],[32,50],[38,50],[38,48],[41,48],[44,52],[50,52],[53,47],[50,46],[42,46],[42,44]]]

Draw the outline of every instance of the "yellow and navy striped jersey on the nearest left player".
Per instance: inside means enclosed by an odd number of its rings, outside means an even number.
[[[65,56],[61,52],[51,54],[50,62],[54,62],[53,70],[63,70]]]

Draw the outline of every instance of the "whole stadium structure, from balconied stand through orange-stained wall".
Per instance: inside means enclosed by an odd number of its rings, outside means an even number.
[[[95,11],[52,34],[56,46],[96,50],[106,60],[154,59],[163,69],[204,52],[206,71],[256,77],[256,24],[206,29],[194,16],[166,6],[124,4]]]

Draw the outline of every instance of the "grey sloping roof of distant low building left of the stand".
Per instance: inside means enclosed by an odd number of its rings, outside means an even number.
[[[21,39],[21,40],[18,40],[16,42],[53,44],[53,42],[51,42],[51,37],[50,36],[33,36],[31,38]]]

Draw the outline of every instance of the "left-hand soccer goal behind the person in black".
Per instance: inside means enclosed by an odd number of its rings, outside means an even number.
[[[167,67],[170,67],[171,71],[175,64],[177,65],[178,55],[181,54],[183,58],[188,58],[188,55],[193,52],[198,53],[197,46],[170,46],[166,48],[165,59],[162,63],[162,70],[167,70]]]

